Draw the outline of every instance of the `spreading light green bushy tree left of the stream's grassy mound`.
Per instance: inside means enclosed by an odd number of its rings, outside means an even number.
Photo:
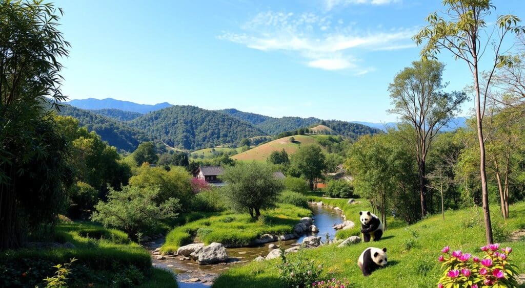
[[[176,198],[157,201],[159,189],[124,186],[122,191],[110,189],[108,202],[100,201],[91,219],[104,227],[121,229],[131,239],[159,227],[162,220],[174,219],[180,204]]]

